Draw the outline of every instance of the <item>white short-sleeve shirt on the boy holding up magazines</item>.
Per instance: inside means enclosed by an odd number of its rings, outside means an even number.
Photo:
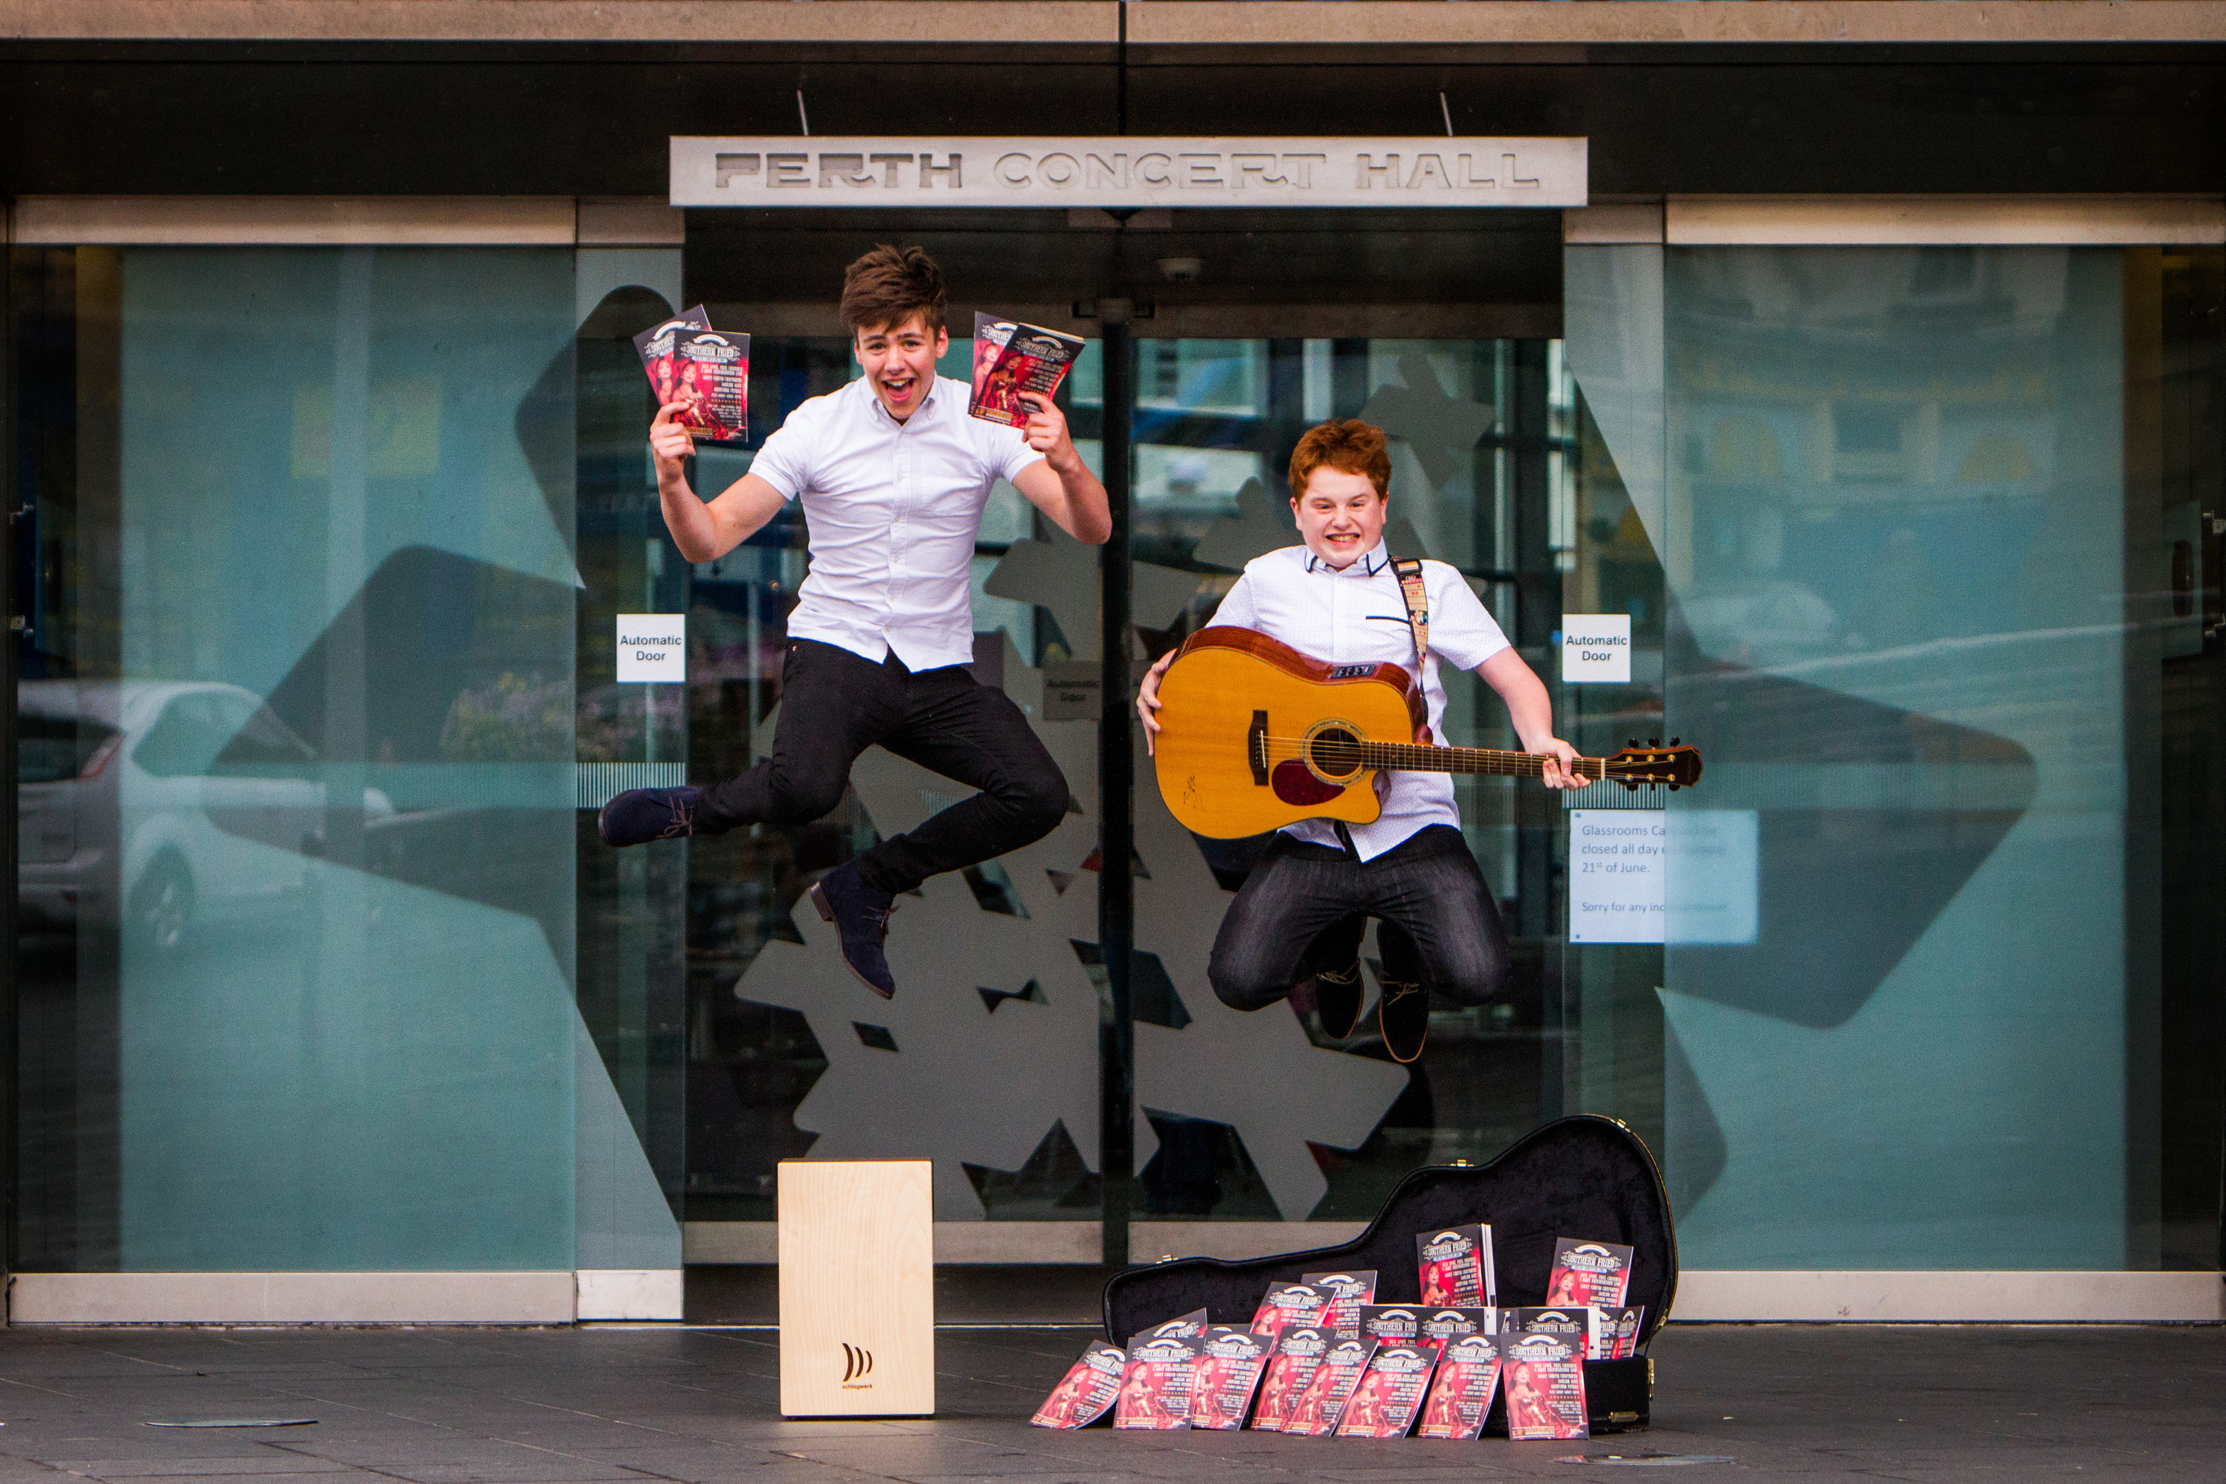
[[[1017,427],[966,416],[973,392],[937,376],[904,423],[866,378],[815,396],[766,438],[750,474],[804,501],[810,572],[790,639],[910,670],[973,663],[975,536],[991,485],[1042,458]]]

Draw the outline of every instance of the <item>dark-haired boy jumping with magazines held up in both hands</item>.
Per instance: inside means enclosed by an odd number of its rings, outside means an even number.
[[[695,441],[672,421],[681,405],[657,409],[657,494],[681,556],[715,561],[801,501],[810,574],[788,614],[772,752],[715,788],[628,790],[597,823],[612,845],[806,823],[841,801],[870,745],[982,790],[812,886],[844,963],[886,999],[897,992],[881,950],[895,894],[1020,850],[1066,814],[1066,779],[1026,716],[968,672],[968,574],[991,485],[1011,481],[1091,545],[1113,516],[1048,398],[1024,394],[1028,425],[1002,427],[968,418],[968,383],[935,374],[951,332],[926,251],[875,247],[853,263],[841,323],[866,374],[788,414],[715,501],[688,487],[681,461]]]

